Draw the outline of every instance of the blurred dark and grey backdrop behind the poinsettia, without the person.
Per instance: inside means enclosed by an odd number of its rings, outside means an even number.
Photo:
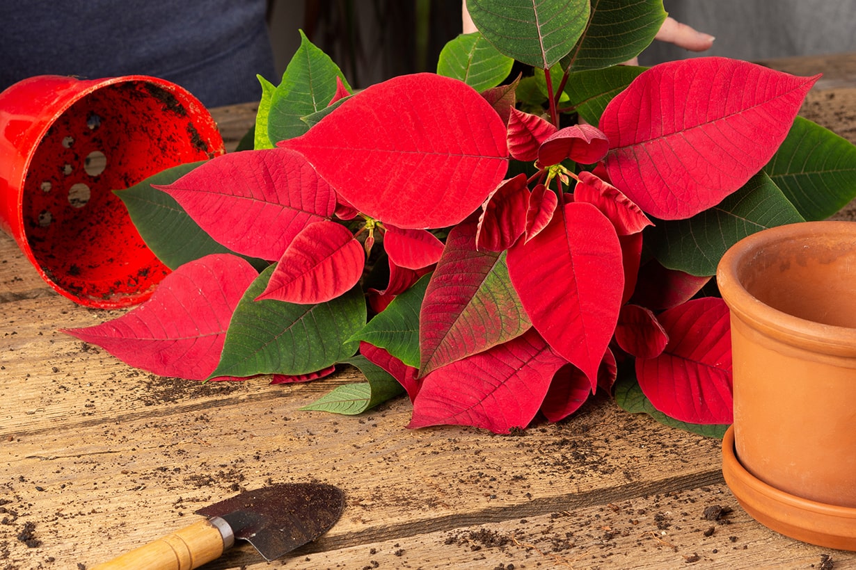
[[[300,44],[300,27],[333,58],[352,85],[434,71],[461,32],[460,0],[269,0],[277,73]],[[758,61],[856,51],[856,0],[663,0],[675,20],[716,37],[693,53],[654,42],[639,64],[698,56]]]

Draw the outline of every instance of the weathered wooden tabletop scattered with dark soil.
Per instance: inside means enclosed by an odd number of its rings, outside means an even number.
[[[853,138],[856,83],[829,80],[804,115]],[[214,114],[233,148],[253,121],[247,106]],[[404,397],[356,417],[299,410],[359,379],[353,369],[203,385],[57,332],[116,314],[56,295],[0,234],[0,570],[91,567],[270,481],[347,494],[342,519],[288,568],[856,568],[856,553],[752,520],[722,481],[718,440],[608,398],[512,436],[410,431]],[[243,544],[206,567],[266,564]]]

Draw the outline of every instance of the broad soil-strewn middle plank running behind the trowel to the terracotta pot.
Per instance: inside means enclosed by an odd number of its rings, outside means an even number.
[[[471,428],[407,431],[410,406],[401,399],[360,418],[300,412],[316,396],[309,387],[291,386],[288,397],[134,420],[106,415],[85,426],[56,421],[51,432],[4,435],[0,489],[14,497],[7,508],[29,507],[46,553],[67,562],[88,553],[82,561],[91,564],[104,544],[129,549],[181,525],[177,512],[271,479],[319,479],[346,490],[348,508],[316,545],[322,549],[721,480],[718,442],[603,400],[572,421],[499,437]],[[0,526],[0,537],[17,532],[27,522],[21,519]],[[81,532],[87,521],[100,530]]]

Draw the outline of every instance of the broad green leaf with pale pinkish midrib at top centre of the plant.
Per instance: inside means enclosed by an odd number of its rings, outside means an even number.
[[[473,23],[497,50],[534,68],[551,68],[574,49],[589,0],[467,0]]]

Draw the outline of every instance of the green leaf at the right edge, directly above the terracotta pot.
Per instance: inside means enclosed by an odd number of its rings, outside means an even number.
[[[856,197],[856,146],[797,117],[764,172],[805,220],[825,220]]]

